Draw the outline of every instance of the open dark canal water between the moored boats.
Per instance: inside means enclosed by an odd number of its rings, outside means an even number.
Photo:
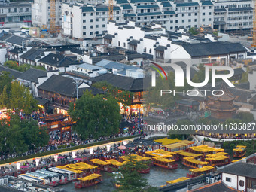
[[[161,185],[166,184],[166,181],[186,177],[188,170],[189,168],[183,166],[181,163],[178,164],[178,169],[175,170],[164,169],[159,166],[151,166],[151,172],[149,174],[142,175],[142,177],[147,178],[148,184],[151,186],[160,187]],[[102,172],[102,179],[103,181],[101,183],[84,189],[75,189],[74,183],[60,185],[58,188],[62,188],[62,191],[65,192],[111,192],[115,190],[109,173]]]

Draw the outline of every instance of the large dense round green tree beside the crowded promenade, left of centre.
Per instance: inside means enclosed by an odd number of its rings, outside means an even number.
[[[70,105],[69,114],[76,121],[73,128],[82,139],[118,133],[120,106],[113,97],[102,97],[87,91],[75,102],[75,107],[72,103]]]

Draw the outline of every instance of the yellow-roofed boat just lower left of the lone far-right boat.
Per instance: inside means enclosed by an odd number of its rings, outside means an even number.
[[[221,152],[217,154],[206,155],[206,162],[209,162],[209,166],[224,166],[231,163],[230,157],[226,156],[227,153]]]

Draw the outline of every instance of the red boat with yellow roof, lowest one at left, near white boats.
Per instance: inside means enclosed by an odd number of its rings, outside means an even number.
[[[95,184],[98,184],[102,181],[102,175],[99,174],[91,174],[84,178],[78,178],[78,181],[75,182],[75,188],[81,189],[84,187],[90,187]]]

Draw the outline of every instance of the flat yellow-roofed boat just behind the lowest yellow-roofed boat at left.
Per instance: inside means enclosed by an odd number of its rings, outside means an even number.
[[[98,166],[92,166],[90,164],[79,162],[75,164],[67,164],[66,167],[70,169],[80,170],[82,171],[82,177],[88,176],[90,174],[96,173],[99,174]]]

